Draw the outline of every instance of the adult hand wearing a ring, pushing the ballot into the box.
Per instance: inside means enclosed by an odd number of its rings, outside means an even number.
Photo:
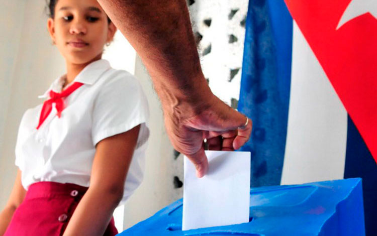
[[[174,109],[164,108],[170,141],[194,163],[198,177],[208,170],[204,139],[210,150],[233,151],[249,140],[252,129],[251,120],[212,93],[203,97],[197,104],[182,102]]]

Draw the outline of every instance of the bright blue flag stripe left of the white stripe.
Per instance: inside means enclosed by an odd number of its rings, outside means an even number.
[[[287,136],[293,20],[283,0],[250,0],[238,110],[253,121],[251,186],[279,185]]]

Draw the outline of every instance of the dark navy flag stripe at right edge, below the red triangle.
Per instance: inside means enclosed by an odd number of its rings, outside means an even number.
[[[362,178],[366,235],[377,232],[377,165],[348,115],[344,178]]]

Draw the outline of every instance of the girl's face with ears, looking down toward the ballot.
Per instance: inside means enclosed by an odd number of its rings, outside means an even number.
[[[47,27],[60,53],[73,64],[101,59],[116,32],[97,0],[58,0]]]

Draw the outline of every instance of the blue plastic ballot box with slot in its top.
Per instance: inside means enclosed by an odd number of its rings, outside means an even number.
[[[181,223],[182,199],[118,235],[363,236],[361,179],[252,188],[248,223],[187,231]]]

